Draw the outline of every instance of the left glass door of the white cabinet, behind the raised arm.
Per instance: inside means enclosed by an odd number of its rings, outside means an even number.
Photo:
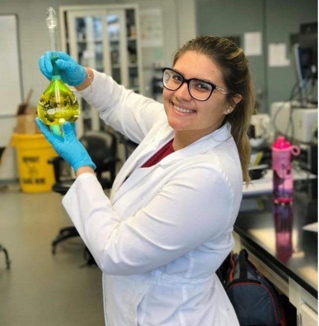
[[[98,11],[68,12],[70,55],[82,66],[104,72],[103,15]],[[81,115],[78,134],[87,130],[99,130],[98,112],[84,100],[80,100]]]

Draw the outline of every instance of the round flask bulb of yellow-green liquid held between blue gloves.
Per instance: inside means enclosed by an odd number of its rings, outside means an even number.
[[[69,87],[61,81],[55,64],[58,58],[51,58],[52,81],[40,97],[37,114],[40,120],[50,126],[52,132],[62,135],[63,122],[75,122],[79,117],[79,104]]]

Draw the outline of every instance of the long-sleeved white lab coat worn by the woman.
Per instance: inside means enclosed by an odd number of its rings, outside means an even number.
[[[234,244],[242,198],[230,125],[141,168],[174,137],[163,105],[98,72],[92,86],[81,95],[107,124],[140,143],[110,199],[90,173],[63,199],[103,271],[106,325],[238,326],[215,275]]]

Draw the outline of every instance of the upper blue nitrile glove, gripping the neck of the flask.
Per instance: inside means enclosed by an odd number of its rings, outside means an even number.
[[[60,77],[63,82],[70,86],[76,86],[84,82],[86,78],[86,71],[84,67],[79,65],[73,58],[65,52],[56,51],[58,60],[56,65],[60,69]],[[49,80],[52,79],[52,63],[51,52],[45,52],[39,59],[39,67],[41,73]]]

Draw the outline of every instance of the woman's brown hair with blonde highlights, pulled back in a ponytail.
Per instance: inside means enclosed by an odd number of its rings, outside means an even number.
[[[243,50],[228,39],[199,36],[186,42],[177,50],[173,64],[175,65],[178,58],[187,51],[195,51],[208,56],[222,71],[223,81],[229,92],[226,98],[234,108],[230,114],[225,116],[224,122],[228,121],[231,124],[231,134],[238,148],[243,179],[249,183],[250,144],[247,132],[251,115],[254,112],[255,97],[248,60]],[[233,99],[237,94],[242,95],[238,104]]]

